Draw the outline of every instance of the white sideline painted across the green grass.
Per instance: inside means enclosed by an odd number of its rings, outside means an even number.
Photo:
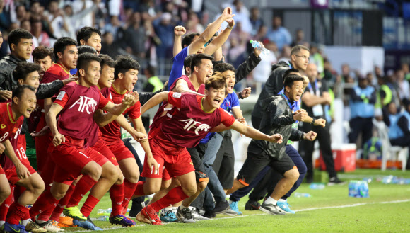
[[[335,209],[335,208],[349,208],[349,207],[356,207],[359,205],[373,205],[373,204],[389,204],[389,203],[407,203],[409,202],[410,199],[404,199],[404,200],[389,200],[389,201],[382,201],[382,202],[373,202],[373,203],[356,203],[356,204],[350,204],[350,205],[336,205],[336,206],[324,206],[324,207],[315,207],[315,208],[307,208],[307,209],[301,209],[301,210],[295,210],[295,212],[303,212],[303,211],[309,211],[309,210],[323,210],[323,209]],[[230,218],[235,218],[235,217],[250,217],[250,216],[257,216],[257,215],[267,215],[266,213],[260,213],[260,214],[254,214],[254,215],[237,215],[237,216],[232,216],[232,217],[218,217],[218,218],[211,218],[210,220],[226,220]],[[95,221],[98,219],[92,218],[91,220]],[[209,221],[209,220],[197,220],[197,221]],[[177,222],[176,222],[177,223]],[[165,224],[170,224],[170,223],[165,223]],[[172,223],[171,223],[172,224]],[[135,227],[142,227],[146,225],[136,225]],[[111,227],[111,228],[103,228],[103,230],[111,230],[111,229],[120,229],[124,227]],[[86,231],[74,231],[74,232],[90,232],[90,230]]]

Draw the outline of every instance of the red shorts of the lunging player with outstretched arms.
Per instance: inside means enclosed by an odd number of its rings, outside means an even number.
[[[153,137],[154,135],[151,136],[149,145],[153,157],[158,163],[159,172],[158,174],[155,174],[155,171],[151,173],[145,159],[141,176],[147,178],[163,178],[164,167],[166,171],[168,171],[168,178],[165,179],[170,179],[172,176],[182,176],[191,171],[195,171],[191,154],[189,154],[185,147],[178,147],[172,144],[172,142],[164,140],[164,135],[159,130],[155,137]]]

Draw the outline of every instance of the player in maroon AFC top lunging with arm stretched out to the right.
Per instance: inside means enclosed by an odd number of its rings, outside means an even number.
[[[206,81],[205,97],[189,93],[163,92],[156,94],[143,106],[142,113],[162,101],[168,101],[179,108],[170,120],[153,132],[153,137],[149,137],[153,156],[159,164],[158,173],[153,173],[148,166],[144,166],[142,176],[151,178],[151,182],[155,182],[159,187],[165,166],[171,176],[177,177],[181,186],[172,188],[163,198],[141,210],[136,217],[140,222],[161,225],[156,212],[197,193],[194,166],[186,147],[195,147],[201,138],[221,123],[247,137],[281,142],[281,135],[264,135],[235,121],[232,115],[219,108],[225,98],[225,86],[223,76],[216,74]]]

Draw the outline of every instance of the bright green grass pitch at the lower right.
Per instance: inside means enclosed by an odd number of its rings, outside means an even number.
[[[388,175],[410,178],[410,171],[362,169],[339,175],[346,181],[373,178],[369,183],[370,198],[349,198],[347,184],[312,190],[303,183],[297,192],[310,193],[312,197],[291,196],[288,199],[291,209],[296,211],[295,215],[266,215],[259,210],[245,210],[247,198],[242,198],[239,209],[243,215],[217,215],[213,220],[195,224],[153,226],[137,222],[136,227],[124,228],[105,221],[94,222],[98,227],[105,228],[105,232],[410,232],[410,185],[376,181]],[[400,202],[395,202],[397,200]],[[110,197],[106,194],[90,217],[97,218],[98,209],[110,207]],[[67,232],[83,230],[78,227],[66,228]]]

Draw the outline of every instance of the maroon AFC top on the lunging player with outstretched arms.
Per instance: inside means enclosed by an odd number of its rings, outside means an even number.
[[[217,108],[211,113],[202,110],[202,96],[190,93],[168,94],[168,103],[179,108],[166,124],[161,124],[160,129],[164,137],[179,147],[192,148],[197,146],[209,130],[223,123],[230,127],[235,118],[222,108]]]

